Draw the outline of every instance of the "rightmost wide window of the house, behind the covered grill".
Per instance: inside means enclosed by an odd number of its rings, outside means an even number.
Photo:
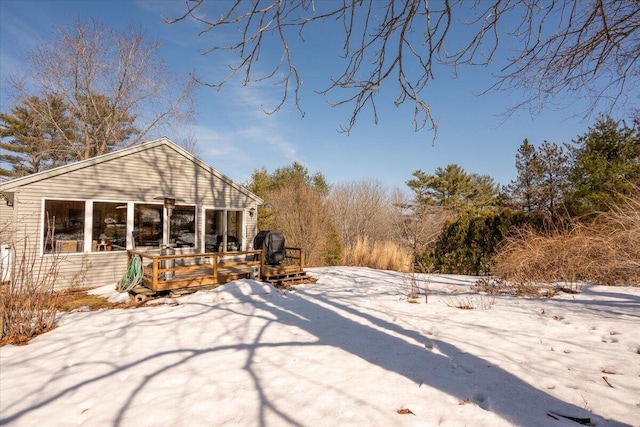
[[[204,246],[206,252],[242,250],[242,211],[205,210]]]

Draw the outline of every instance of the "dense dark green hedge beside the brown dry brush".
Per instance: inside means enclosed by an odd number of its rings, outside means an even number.
[[[431,270],[449,274],[488,274],[499,246],[514,229],[542,227],[538,214],[513,212],[467,213],[447,222],[433,248],[422,257]]]

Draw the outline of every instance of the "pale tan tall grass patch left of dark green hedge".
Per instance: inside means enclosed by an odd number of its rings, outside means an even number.
[[[342,264],[348,266],[409,272],[412,262],[411,253],[400,245],[376,242],[368,237],[358,237],[353,245],[342,251]]]

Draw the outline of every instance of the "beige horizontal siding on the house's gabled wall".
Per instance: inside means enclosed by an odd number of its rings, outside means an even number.
[[[146,148],[141,148],[145,147]],[[172,194],[184,200],[179,204],[196,206],[197,234],[201,232],[202,208],[257,209],[257,199],[251,193],[193,158],[173,143],[149,143],[135,149],[97,158],[95,162],[79,162],[59,168],[42,179],[0,191],[14,193],[14,206],[0,206],[0,226],[13,222],[16,235],[29,236],[42,251],[43,200],[73,199],[113,202],[147,202],[158,196]],[[34,176],[36,177],[36,176]],[[258,199],[259,200],[259,199]],[[246,243],[249,248],[257,232],[257,214],[245,215]],[[199,249],[200,239],[197,240]],[[18,248],[19,249],[19,248]],[[85,248],[90,250],[90,248]],[[18,254],[16,254],[18,255]],[[51,261],[59,257],[59,287],[78,285],[95,287],[117,282],[127,264],[126,252],[44,255]]]

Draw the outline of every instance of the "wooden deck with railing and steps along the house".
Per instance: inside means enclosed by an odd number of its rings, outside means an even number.
[[[244,278],[255,278],[274,286],[305,283],[311,279],[304,272],[304,253],[300,248],[286,248],[286,257],[280,265],[265,264],[262,251],[175,255],[128,251],[128,255],[129,260],[134,255],[141,258],[141,285],[151,291],[147,293],[195,291]]]

